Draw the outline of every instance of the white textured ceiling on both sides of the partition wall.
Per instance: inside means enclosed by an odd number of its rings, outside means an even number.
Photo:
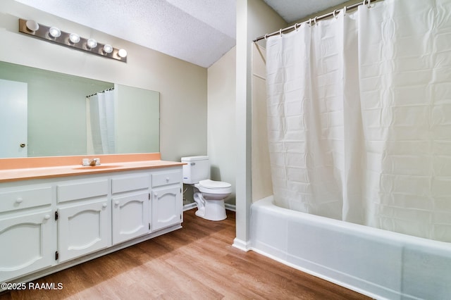
[[[204,68],[235,46],[235,0],[16,1]],[[264,1],[288,23],[343,2]]]

